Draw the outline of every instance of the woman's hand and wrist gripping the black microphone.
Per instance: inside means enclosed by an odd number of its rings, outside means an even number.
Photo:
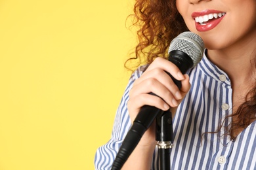
[[[165,71],[170,73],[175,79],[181,80],[181,90],[179,90]],[[156,58],[142,76],[135,80],[133,88],[129,93],[130,99],[127,107],[131,121],[135,120],[140,108],[144,105],[154,106],[161,110],[168,110],[171,107],[171,112],[174,116],[177,106],[181,103],[189,89],[188,75],[182,75],[179,68],[167,59]],[[151,95],[149,94],[150,92],[158,96]],[[156,146],[155,124],[148,128],[138,145],[154,150]]]

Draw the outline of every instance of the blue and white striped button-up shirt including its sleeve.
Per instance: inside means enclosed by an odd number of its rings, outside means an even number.
[[[131,121],[127,110],[129,90],[142,75],[141,68],[131,76],[117,110],[112,137],[100,146],[95,155],[95,169],[111,169]],[[256,121],[242,131],[235,141],[224,135],[232,112],[230,79],[206,56],[190,70],[190,92],[177,109],[173,119],[174,146],[171,150],[171,169],[256,169]],[[152,169],[160,169],[156,148]]]

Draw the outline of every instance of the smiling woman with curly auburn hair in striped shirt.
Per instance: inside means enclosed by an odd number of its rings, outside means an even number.
[[[256,1],[137,0],[135,16],[137,56],[150,65],[131,76],[96,169],[110,169],[143,105],[171,108],[171,169],[256,169]],[[171,40],[187,30],[202,37],[205,52],[182,75],[164,58]],[[165,71],[181,80],[181,90]],[[152,124],[123,169],[159,169],[157,158]]]

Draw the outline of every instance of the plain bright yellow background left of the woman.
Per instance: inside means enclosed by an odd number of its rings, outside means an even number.
[[[133,1],[0,0],[0,169],[94,169],[135,46]]]

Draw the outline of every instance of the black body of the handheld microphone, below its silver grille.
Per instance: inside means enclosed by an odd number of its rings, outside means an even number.
[[[188,69],[195,65],[194,60],[182,50],[171,50],[171,52],[169,52],[168,60],[174,63],[180,69],[182,74],[185,74],[188,71]],[[167,74],[171,76],[169,73]],[[180,89],[181,81],[176,80],[175,78],[173,78],[173,76],[171,76],[171,78]],[[150,94],[156,95],[154,93]],[[131,126],[131,129],[128,131],[123,141],[123,144],[119,148],[116,160],[112,165],[112,170],[121,169],[125,161],[129,158],[129,156],[139,143],[146,129],[150,127],[152,122],[155,120],[156,116],[158,116],[159,114],[163,114],[163,112],[165,111],[148,105],[144,105],[143,107],[141,107],[139,114],[137,115],[133,122],[133,126]]]

